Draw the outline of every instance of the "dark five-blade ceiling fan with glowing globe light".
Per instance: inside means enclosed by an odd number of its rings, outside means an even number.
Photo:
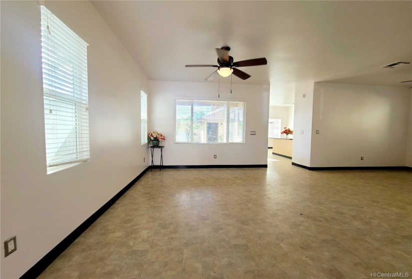
[[[238,62],[233,62],[233,57],[229,56],[230,47],[222,46],[221,48],[216,48],[216,52],[218,55],[217,64],[218,65],[186,65],[185,67],[215,67],[217,68],[210,76],[208,76],[205,80],[212,80],[219,75],[222,77],[228,77],[232,73],[245,80],[250,78],[250,75],[247,73],[237,69],[238,67],[248,67],[248,66],[259,66],[259,65],[266,65],[268,61],[266,58],[256,58],[256,59],[249,59],[243,60]]]

